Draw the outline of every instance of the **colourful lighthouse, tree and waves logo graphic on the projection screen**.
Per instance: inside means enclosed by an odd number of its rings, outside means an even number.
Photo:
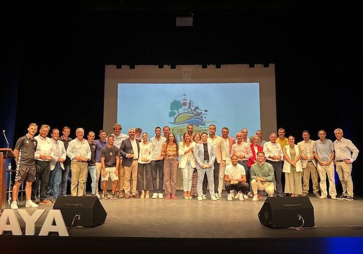
[[[183,94],[183,102],[174,100],[170,103],[169,117],[173,117],[173,124],[193,124],[195,126],[205,126],[205,119],[208,110],[201,109],[192,100],[187,100],[186,94]]]

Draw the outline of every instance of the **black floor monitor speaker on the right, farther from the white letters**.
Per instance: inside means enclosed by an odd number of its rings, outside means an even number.
[[[268,197],[259,219],[272,229],[314,227],[314,207],[309,197]]]

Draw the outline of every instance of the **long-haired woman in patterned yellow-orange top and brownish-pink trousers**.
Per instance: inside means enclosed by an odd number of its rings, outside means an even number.
[[[177,138],[173,133],[169,134],[168,139],[162,145],[161,156],[164,157],[165,199],[178,199],[175,192],[177,188],[179,147]]]

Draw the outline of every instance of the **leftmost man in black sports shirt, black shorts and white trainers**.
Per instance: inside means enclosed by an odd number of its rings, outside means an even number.
[[[31,200],[32,183],[36,179],[36,169],[34,161],[34,153],[37,149],[37,140],[34,135],[38,131],[38,125],[31,123],[27,129],[28,133],[16,141],[14,154],[16,160],[16,175],[15,183],[13,186],[13,202],[11,209],[18,209],[17,198],[19,187],[25,181],[25,207],[38,207],[36,203]]]

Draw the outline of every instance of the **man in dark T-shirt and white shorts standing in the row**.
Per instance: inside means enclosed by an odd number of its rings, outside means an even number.
[[[108,199],[107,181],[111,177],[112,180],[112,196],[111,199],[117,199],[115,190],[119,181],[120,167],[120,150],[114,145],[115,138],[112,135],[107,137],[108,144],[101,150],[101,166],[102,166],[102,199]]]

